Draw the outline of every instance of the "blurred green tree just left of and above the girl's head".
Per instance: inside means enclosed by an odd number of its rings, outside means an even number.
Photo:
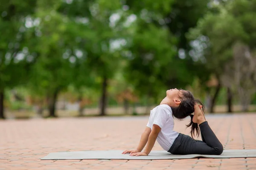
[[[166,28],[159,28],[152,20],[163,17],[170,10],[172,0],[167,1],[126,1],[123,8],[130,9],[129,36],[127,49],[123,52],[127,58],[125,77],[134,85],[139,96],[146,96],[147,103],[155,102],[160,96],[161,69],[170,64],[175,54],[174,42]],[[145,113],[148,112],[148,107]]]

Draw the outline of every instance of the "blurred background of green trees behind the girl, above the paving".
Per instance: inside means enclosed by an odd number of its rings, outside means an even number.
[[[256,111],[256,0],[0,0],[0,118],[142,115],[170,88]]]

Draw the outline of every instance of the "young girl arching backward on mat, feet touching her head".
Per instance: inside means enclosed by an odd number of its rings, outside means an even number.
[[[172,154],[220,155],[223,152],[223,146],[209,127],[201,109],[204,111],[204,104],[195,99],[190,91],[176,88],[166,91],[166,97],[159,106],[151,111],[147,127],[141,135],[137,149],[125,150],[122,154],[148,156],[157,140],[164,150]],[[201,131],[202,141],[173,130],[173,117],[184,119],[187,116],[191,117],[191,122],[187,125],[191,126],[191,136],[195,136],[195,131],[199,136]],[[142,152],[146,144],[147,146]]]

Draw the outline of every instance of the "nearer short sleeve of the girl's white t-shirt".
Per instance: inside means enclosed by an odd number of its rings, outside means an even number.
[[[166,123],[168,118],[169,118],[168,111],[163,107],[159,107],[157,109],[156,116],[154,117],[153,124],[158,125],[162,129],[163,125]]]

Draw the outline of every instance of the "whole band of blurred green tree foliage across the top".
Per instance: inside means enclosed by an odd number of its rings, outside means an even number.
[[[23,86],[41,100],[58,91],[95,104],[107,80],[115,105],[126,91],[158,103],[169,88],[207,90],[235,42],[256,44],[256,1],[216,2],[0,0],[0,92]]]

